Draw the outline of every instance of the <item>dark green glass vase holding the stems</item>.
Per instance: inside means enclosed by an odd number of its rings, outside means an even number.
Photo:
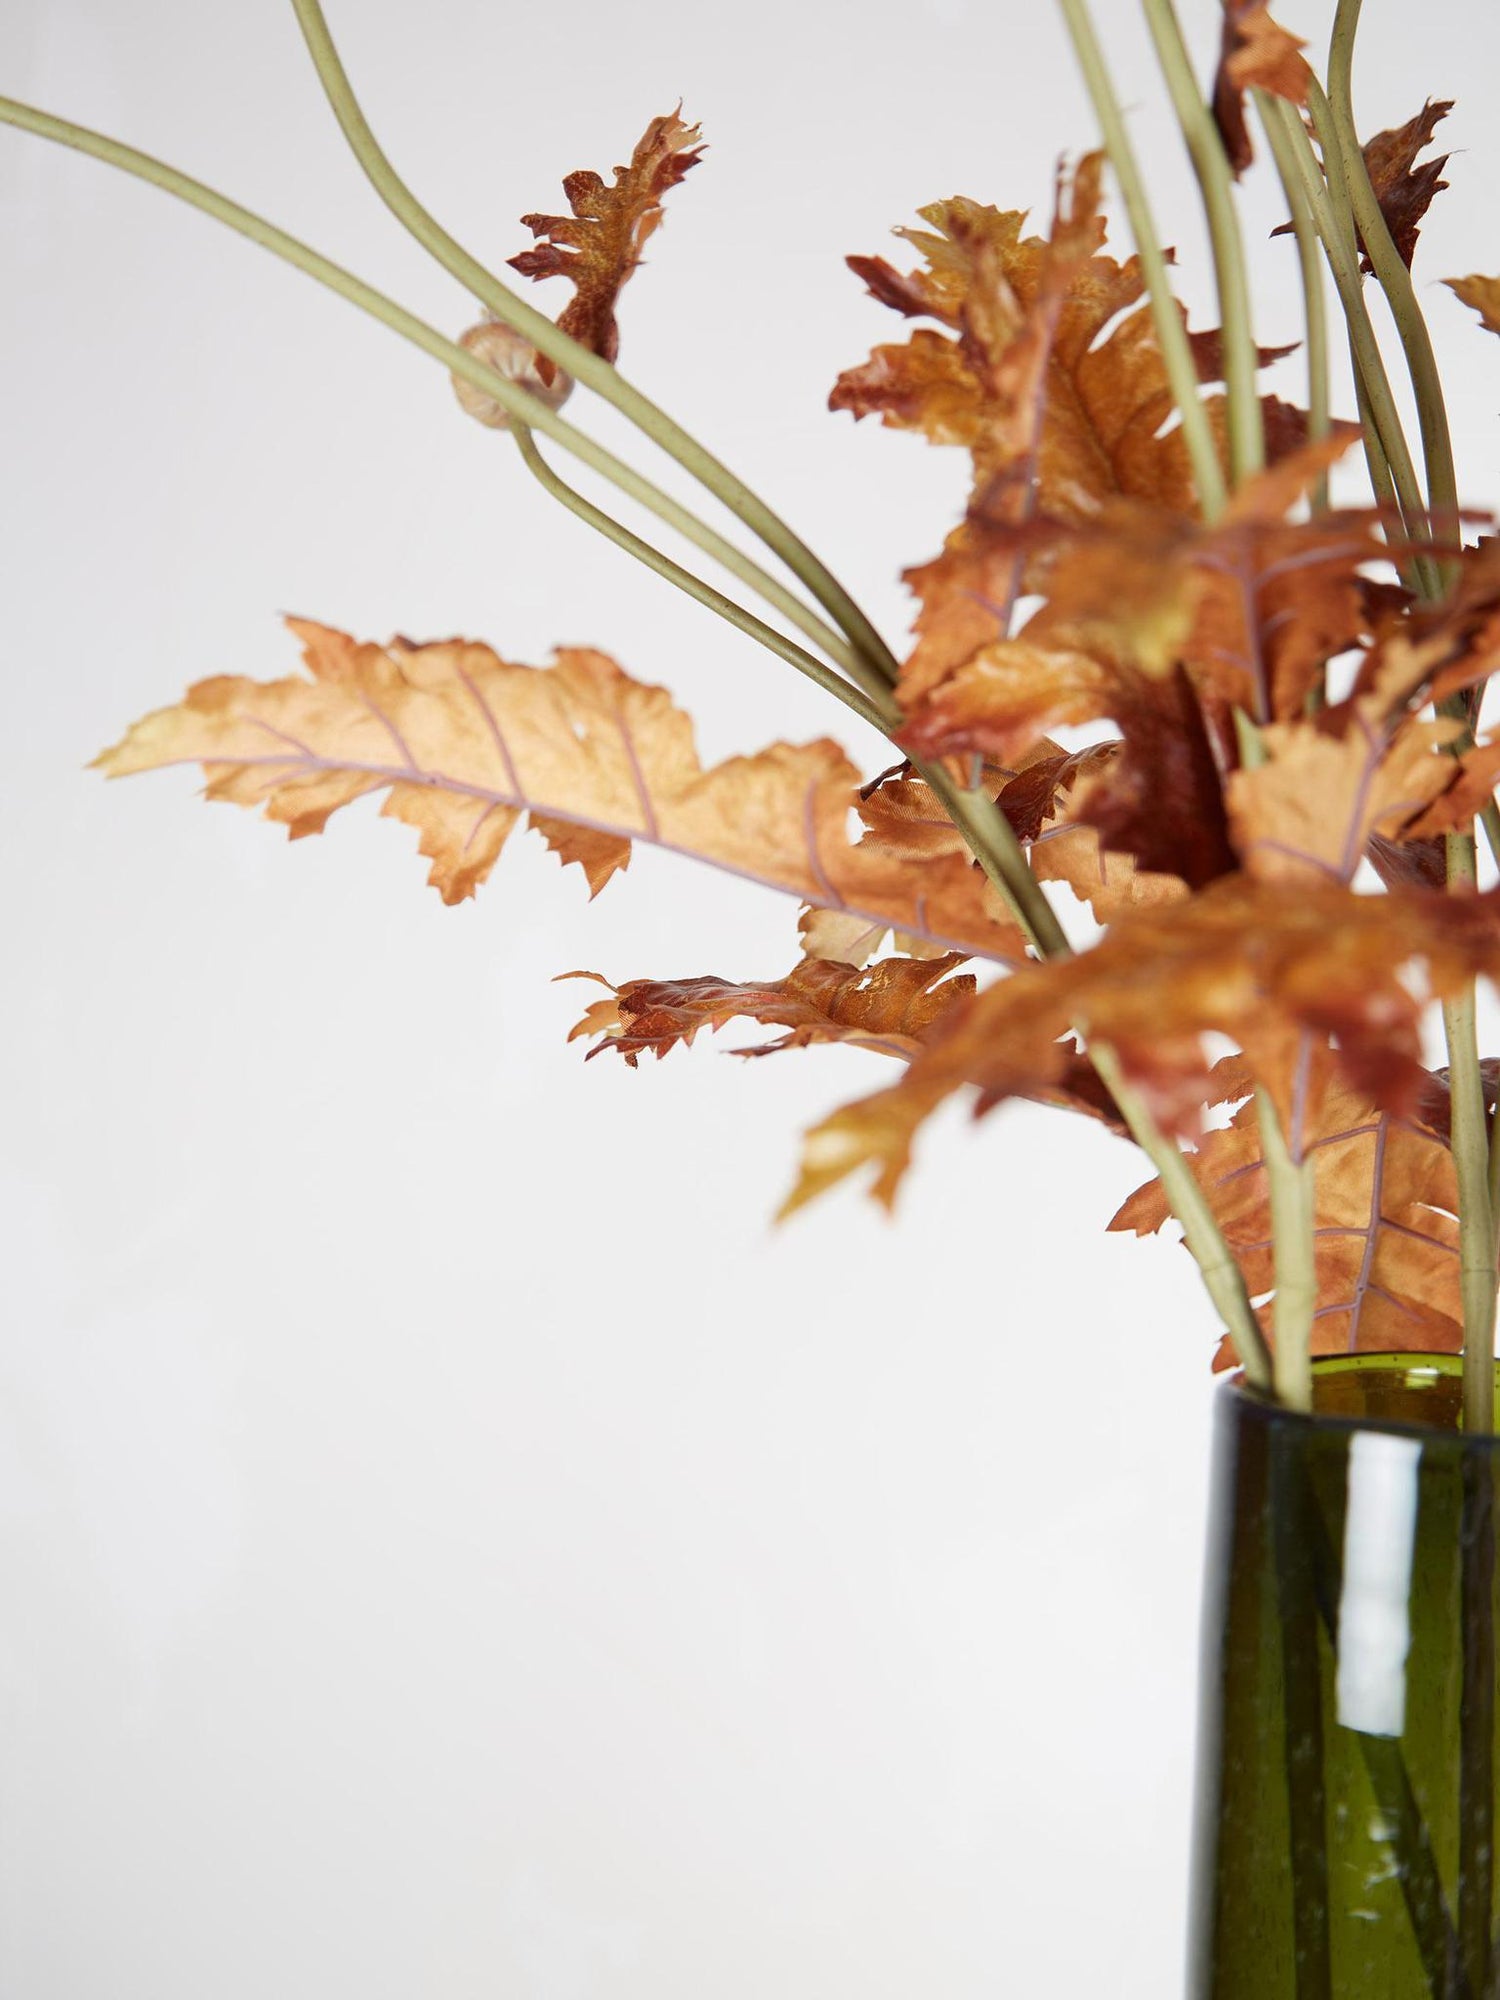
[[[1496,2000],[1496,1480],[1458,1362],[1218,1398],[1190,2000]]]

